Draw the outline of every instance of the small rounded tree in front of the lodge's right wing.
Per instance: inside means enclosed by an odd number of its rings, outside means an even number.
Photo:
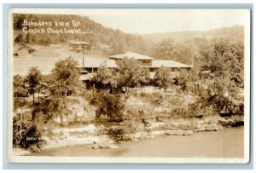
[[[167,91],[167,88],[172,84],[170,74],[171,70],[169,67],[160,66],[154,75],[155,84],[157,84],[160,89],[165,89]]]

